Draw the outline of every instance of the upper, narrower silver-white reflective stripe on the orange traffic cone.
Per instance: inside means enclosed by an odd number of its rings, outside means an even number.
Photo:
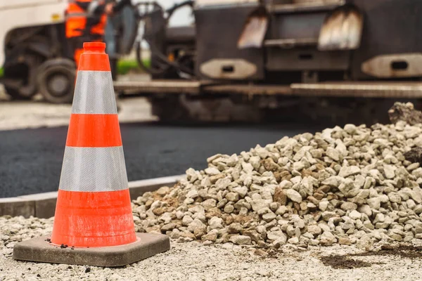
[[[72,113],[117,114],[110,71],[79,70],[77,72]]]

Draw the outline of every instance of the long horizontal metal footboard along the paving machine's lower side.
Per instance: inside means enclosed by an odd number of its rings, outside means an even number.
[[[336,96],[362,98],[421,98],[421,82],[326,82],[315,84],[212,84],[208,81],[115,82],[115,89],[134,94],[242,94],[262,96]]]

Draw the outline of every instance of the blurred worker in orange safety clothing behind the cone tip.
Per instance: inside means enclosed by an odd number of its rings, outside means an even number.
[[[79,65],[85,41],[103,41],[107,11],[113,3],[104,0],[68,0],[65,12],[65,33],[70,46],[70,56]]]

